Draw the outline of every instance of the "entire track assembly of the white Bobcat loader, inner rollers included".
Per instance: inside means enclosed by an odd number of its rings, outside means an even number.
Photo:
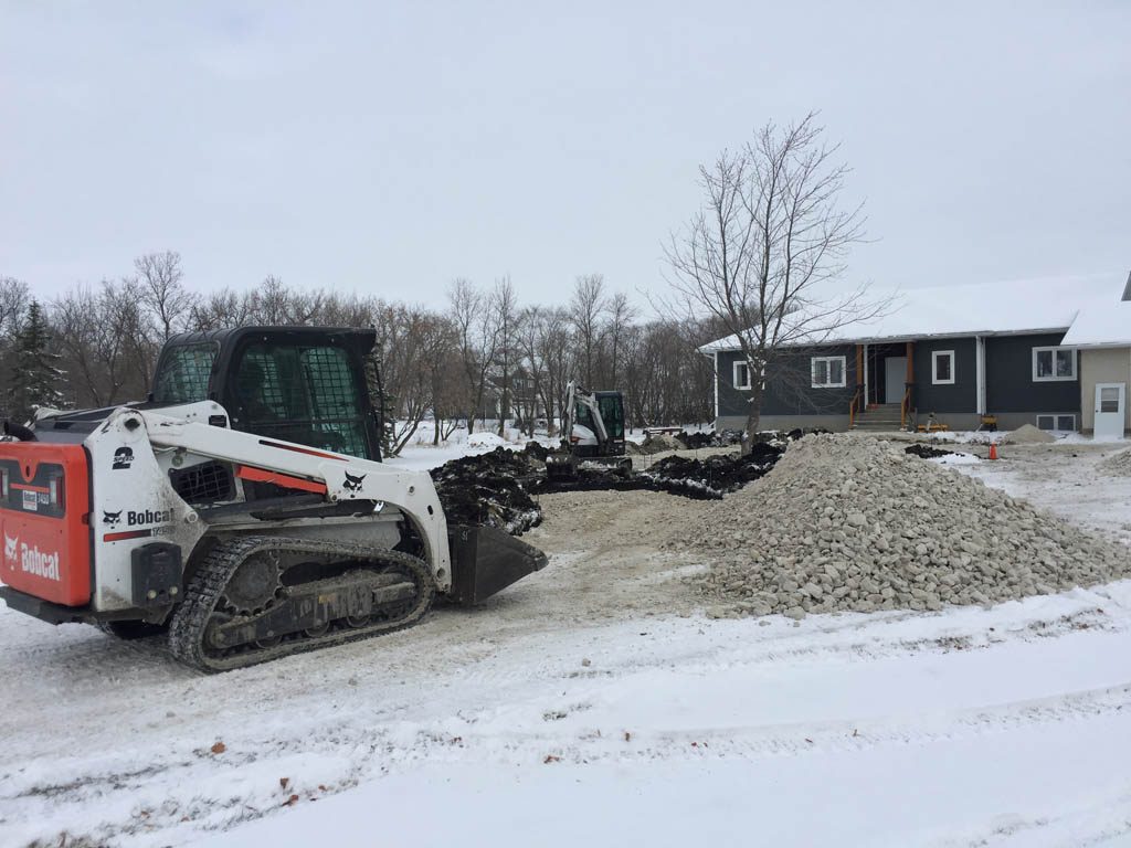
[[[169,644],[189,666],[226,672],[407,628],[434,597],[432,573],[416,556],[248,536],[216,545],[201,563]]]

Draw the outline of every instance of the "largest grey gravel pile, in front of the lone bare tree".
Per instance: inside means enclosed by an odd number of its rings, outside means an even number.
[[[1131,574],[1128,548],[887,442],[808,436],[665,546],[705,555],[708,613],[941,609]]]

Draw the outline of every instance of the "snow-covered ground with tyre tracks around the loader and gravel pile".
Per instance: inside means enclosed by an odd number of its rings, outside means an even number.
[[[1113,450],[956,473],[1128,540]],[[700,505],[544,502],[483,607],[218,676],[0,609],[0,846],[1131,845],[1131,581],[708,621],[654,545]]]

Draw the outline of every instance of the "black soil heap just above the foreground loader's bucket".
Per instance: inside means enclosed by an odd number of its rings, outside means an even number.
[[[497,527],[512,536],[542,523],[542,507],[523,485],[532,473],[525,453],[506,448],[452,459],[431,471],[449,525]]]

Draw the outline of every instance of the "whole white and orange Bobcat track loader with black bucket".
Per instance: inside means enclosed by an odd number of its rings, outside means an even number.
[[[449,526],[426,471],[380,461],[375,332],[173,337],[144,403],[6,424],[0,598],[53,624],[167,630],[217,672],[474,604],[546,563]],[[380,408],[378,406],[377,408]]]

